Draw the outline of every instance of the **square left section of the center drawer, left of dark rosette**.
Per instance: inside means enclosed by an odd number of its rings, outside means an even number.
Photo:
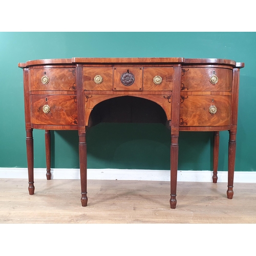
[[[113,68],[83,68],[83,90],[112,91]]]

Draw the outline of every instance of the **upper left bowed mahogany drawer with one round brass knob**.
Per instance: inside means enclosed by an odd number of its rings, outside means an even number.
[[[31,69],[30,91],[75,91],[75,68]]]

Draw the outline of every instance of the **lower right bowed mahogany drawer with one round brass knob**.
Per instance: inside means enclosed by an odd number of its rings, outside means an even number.
[[[186,95],[181,99],[180,126],[230,125],[230,118],[230,95]]]

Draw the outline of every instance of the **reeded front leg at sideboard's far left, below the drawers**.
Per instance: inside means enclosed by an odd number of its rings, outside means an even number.
[[[33,145],[33,130],[26,129],[26,145],[27,145],[27,160],[28,160],[28,175],[29,175],[29,195],[34,195],[34,145]]]

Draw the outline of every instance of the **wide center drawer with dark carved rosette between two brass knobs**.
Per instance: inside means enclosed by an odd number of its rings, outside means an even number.
[[[86,91],[172,91],[173,67],[84,67]]]

